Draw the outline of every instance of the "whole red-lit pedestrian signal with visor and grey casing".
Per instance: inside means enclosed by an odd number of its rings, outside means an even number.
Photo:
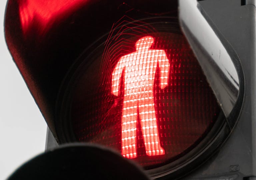
[[[5,37],[59,144],[151,178],[255,179],[254,3],[9,0]]]

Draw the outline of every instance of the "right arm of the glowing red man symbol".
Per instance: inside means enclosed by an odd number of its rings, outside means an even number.
[[[168,85],[168,77],[170,71],[170,63],[169,59],[166,55],[163,55],[160,60],[158,60],[158,64],[160,67],[160,84],[161,89],[164,89]]]

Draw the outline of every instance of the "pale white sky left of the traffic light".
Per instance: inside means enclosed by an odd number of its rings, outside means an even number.
[[[0,180],[44,151],[46,123],[7,49],[0,1]]]

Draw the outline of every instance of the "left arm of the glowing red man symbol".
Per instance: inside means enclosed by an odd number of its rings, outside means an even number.
[[[119,89],[120,89],[120,78],[122,75],[124,69],[124,63],[122,62],[122,58],[118,61],[116,64],[116,67],[113,70],[112,73],[112,89],[111,93],[115,96],[119,95]]]

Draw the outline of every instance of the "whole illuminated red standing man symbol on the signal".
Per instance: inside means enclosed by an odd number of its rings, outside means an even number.
[[[167,86],[170,64],[164,50],[149,49],[153,42],[150,36],[139,39],[136,52],[122,56],[112,74],[112,93],[118,96],[123,73],[122,155],[127,158],[137,157],[137,113],[146,154],[164,154],[157,129],[153,86],[157,67],[161,88]]]

